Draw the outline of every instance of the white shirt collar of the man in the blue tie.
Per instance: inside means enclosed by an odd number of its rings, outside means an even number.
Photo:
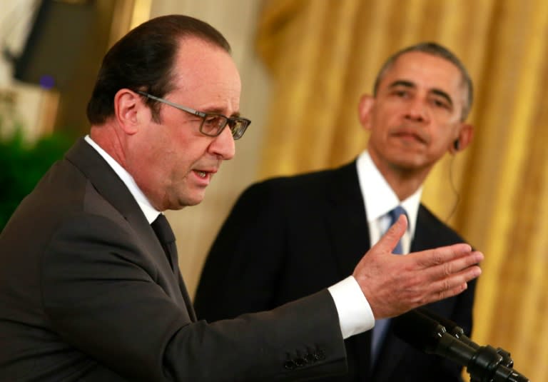
[[[409,221],[407,229],[411,233],[411,237],[415,236],[422,187],[417,189],[409,198],[400,202],[367,151],[363,151],[358,156],[356,167],[360,190],[365,201],[365,211],[367,211],[367,222],[377,221],[378,218],[385,216],[392,208],[401,205],[407,212]]]

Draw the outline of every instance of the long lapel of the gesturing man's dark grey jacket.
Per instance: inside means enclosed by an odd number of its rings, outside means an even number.
[[[146,220],[143,211],[141,211],[126,184],[84,139],[78,139],[76,144],[67,152],[66,160],[78,167],[98,193],[128,221],[135,232],[136,240],[140,241],[141,247],[146,253],[151,254],[156,266],[158,266],[158,271],[166,280],[169,280],[169,291],[166,291],[166,293],[169,292],[171,297],[178,303],[184,303],[188,309],[188,316],[196,320],[191,300],[188,298],[186,286],[178,269],[177,256],[172,258],[174,265],[171,268],[156,233]],[[173,245],[175,246],[175,244]],[[174,253],[176,253],[176,248]]]

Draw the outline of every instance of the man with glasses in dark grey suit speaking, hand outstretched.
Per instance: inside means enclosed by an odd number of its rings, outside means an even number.
[[[373,318],[454,296],[480,274],[482,254],[465,243],[392,261],[400,218],[345,280],[268,312],[196,321],[161,211],[200,203],[233,157],[249,124],[239,99],[228,42],[202,21],[152,19],[108,51],[88,104],[90,134],[0,235],[0,381],[340,374],[343,338],[369,330]],[[383,298],[371,264],[424,287],[389,286],[397,297]]]

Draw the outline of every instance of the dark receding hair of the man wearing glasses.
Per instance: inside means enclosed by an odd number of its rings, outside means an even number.
[[[230,44],[204,21],[184,15],[159,16],[123,36],[103,58],[87,116],[91,124],[103,124],[114,115],[114,96],[120,89],[146,91],[163,97],[173,90],[173,61],[181,39],[198,37],[230,54]],[[158,118],[158,104],[147,99]]]

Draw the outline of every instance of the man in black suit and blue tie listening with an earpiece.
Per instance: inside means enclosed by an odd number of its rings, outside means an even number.
[[[370,139],[357,161],[270,179],[240,196],[205,262],[198,318],[262,311],[331,285],[352,273],[358,253],[379,240],[396,207],[410,221],[402,253],[462,242],[420,196],[432,166],[470,143],[465,119],[471,104],[470,76],[444,47],[417,44],[391,56],[373,96],[360,99],[360,122]],[[469,283],[464,293],[428,308],[470,335],[474,291]],[[460,366],[411,348],[392,333],[390,321],[347,339],[346,351],[348,375],[323,381],[461,380]]]

